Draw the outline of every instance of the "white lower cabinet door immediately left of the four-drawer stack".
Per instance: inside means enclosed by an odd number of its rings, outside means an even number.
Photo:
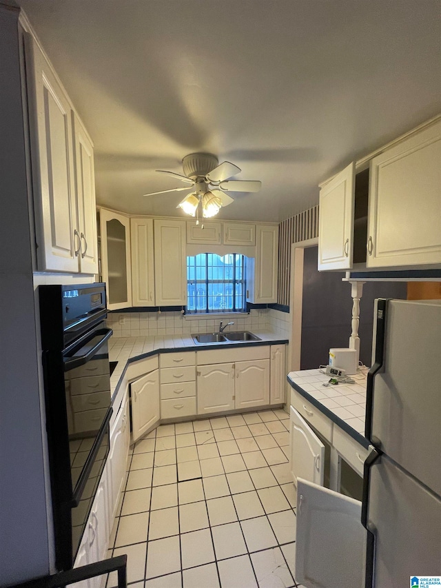
[[[155,425],[161,418],[159,407],[159,370],[134,381],[132,390],[132,440],[133,442]]]

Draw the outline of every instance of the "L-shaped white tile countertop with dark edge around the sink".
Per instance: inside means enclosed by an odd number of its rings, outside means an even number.
[[[223,347],[243,347],[244,345],[276,345],[287,344],[287,338],[269,331],[254,330],[253,333],[261,341],[246,341],[237,343],[194,343],[190,335],[164,335],[154,337],[114,337],[109,340],[109,359],[117,361],[112,376],[110,389],[112,398],[119,387],[127,363],[155,355],[157,353],[171,353],[176,351],[202,351],[203,349],[222,349]]]

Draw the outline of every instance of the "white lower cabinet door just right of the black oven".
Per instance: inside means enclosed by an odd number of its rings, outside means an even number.
[[[119,496],[125,482],[127,457],[130,445],[129,405],[128,396],[121,404],[112,432],[110,433],[110,452],[107,456],[107,490],[109,497],[109,520],[116,514]]]

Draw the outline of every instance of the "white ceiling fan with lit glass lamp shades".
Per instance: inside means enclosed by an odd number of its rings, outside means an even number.
[[[216,155],[211,153],[190,153],[182,160],[184,176],[166,170],[156,170],[161,174],[167,174],[180,179],[189,185],[176,187],[171,190],[150,192],[144,196],[166,194],[167,192],[180,192],[181,190],[192,190],[176,208],[181,208],[187,214],[209,218],[217,214],[221,207],[231,204],[232,199],[227,192],[258,192],[262,182],[256,180],[228,180],[236,176],[241,170],[229,161],[218,162]],[[197,221],[198,222],[198,221]]]

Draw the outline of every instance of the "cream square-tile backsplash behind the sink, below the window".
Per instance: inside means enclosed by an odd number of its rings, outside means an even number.
[[[155,335],[182,335],[218,330],[222,317],[186,318],[181,312],[110,312],[107,324],[114,337]],[[274,309],[252,309],[247,315],[223,319],[224,324],[234,321],[228,330],[271,331],[289,337],[289,314]]]

